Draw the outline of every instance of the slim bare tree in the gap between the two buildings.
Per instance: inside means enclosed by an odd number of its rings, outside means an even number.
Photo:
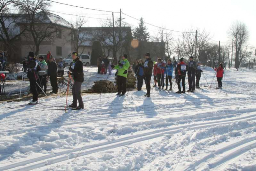
[[[86,31],[82,30],[81,28],[86,24],[86,20],[84,17],[79,16],[76,19],[76,22],[71,24],[71,37],[72,42],[75,48],[75,51],[79,51],[79,48],[82,48],[82,51],[80,51],[80,54],[83,54],[85,49],[85,43],[90,42],[90,39],[88,37],[88,34]]]

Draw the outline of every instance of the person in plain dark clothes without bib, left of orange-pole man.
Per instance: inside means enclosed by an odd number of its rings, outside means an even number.
[[[50,76],[52,92],[50,93],[58,93],[58,83],[57,83],[57,73],[58,73],[58,66],[56,62],[53,61],[53,58],[49,58],[49,66],[48,66],[48,76]]]

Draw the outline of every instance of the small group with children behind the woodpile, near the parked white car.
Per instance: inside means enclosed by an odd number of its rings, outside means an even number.
[[[98,74],[108,74],[111,75],[112,74],[112,68],[111,68],[111,61],[108,60],[108,58],[106,56],[99,56],[99,58],[97,59],[97,66],[98,66]]]

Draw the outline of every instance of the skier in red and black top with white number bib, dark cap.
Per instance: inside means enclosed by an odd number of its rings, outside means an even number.
[[[179,91],[177,91],[176,93],[186,93],[185,90],[185,79],[186,79],[186,72],[188,71],[188,65],[185,64],[184,62],[184,58],[180,58],[180,63],[177,65],[177,74],[178,74],[178,80],[177,80],[177,84],[178,84],[178,89]],[[182,87],[183,90],[181,91],[180,88],[180,81],[182,81]]]

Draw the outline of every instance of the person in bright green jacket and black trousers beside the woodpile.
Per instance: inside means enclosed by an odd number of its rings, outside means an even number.
[[[124,96],[126,92],[126,80],[128,74],[128,68],[130,67],[130,63],[127,60],[128,56],[126,54],[123,55],[123,60],[119,62],[118,65],[111,67],[117,69],[117,96]],[[121,94],[122,93],[122,94]]]

